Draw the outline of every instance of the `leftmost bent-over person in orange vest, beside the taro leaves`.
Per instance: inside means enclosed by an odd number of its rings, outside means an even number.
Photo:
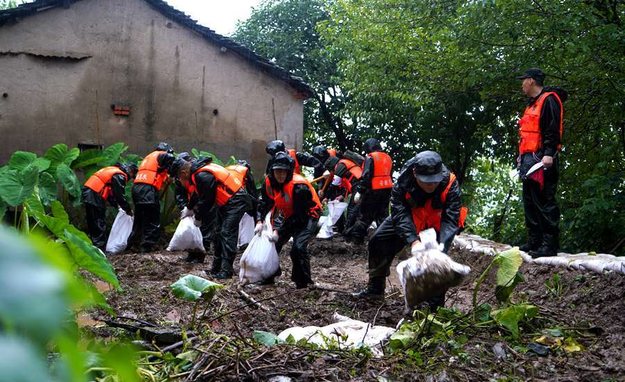
[[[106,202],[132,216],[133,210],[126,201],[126,182],[136,174],[137,165],[117,163],[99,169],[83,186],[81,201],[85,204],[89,235],[101,251],[106,247]]]

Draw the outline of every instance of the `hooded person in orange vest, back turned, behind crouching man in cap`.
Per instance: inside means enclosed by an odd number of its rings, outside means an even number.
[[[382,151],[380,141],[369,138],[363,144],[365,162],[363,176],[356,186],[353,201],[358,206],[358,219],[353,225],[351,240],[363,244],[367,229],[376,221],[378,225],[388,216],[388,202],[393,188],[393,161]]]

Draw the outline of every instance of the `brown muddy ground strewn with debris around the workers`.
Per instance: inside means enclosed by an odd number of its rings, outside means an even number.
[[[248,285],[244,290],[254,299],[263,299],[292,290],[290,281],[289,247],[281,253],[283,275],[276,285],[263,287]],[[313,240],[309,246],[312,255],[313,279],[319,285],[337,290],[353,291],[363,288],[367,281],[367,251],[365,246],[345,244],[342,240]],[[472,304],[474,281],[490,263],[490,256],[472,254],[468,251],[452,250],[450,254],[460,263],[472,268],[472,273],[458,288],[449,290],[446,307],[468,311]],[[210,279],[205,272],[206,263],[188,264],[184,252],[156,251],[149,254],[119,254],[110,257],[115,272],[121,281],[123,291],[106,292],[108,302],[118,315],[144,319],[157,324],[188,325],[191,305],[174,297],[169,285],[184,274],[196,274]],[[238,260],[235,272],[238,274]],[[396,259],[394,265],[397,264]],[[422,369],[393,367],[381,362],[369,362],[356,374],[349,370],[328,373],[322,364],[310,365],[310,371],[301,374],[301,379],[358,379],[376,380],[383,375],[389,379],[410,379],[428,381],[474,381],[488,379],[556,380],[556,381],[601,381],[625,379],[625,278],[617,274],[597,275],[578,271],[553,269],[544,265],[522,265],[521,272],[526,282],[517,286],[514,299],[526,299],[540,307],[540,315],[548,317],[561,326],[571,328],[592,327],[587,337],[576,338],[583,351],[564,354],[551,351],[548,356],[537,356],[531,351],[522,354],[515,351],[506,331],[490,331],[474,335],[463,345],[466,356],[461,359],[447,354],[441,344],[435,367],[425,373]],[[549,292],[545,283],[553,274],[561,276],[561,290]],[[217,281],[228,288],[218,292],[206,311],[206,318],[246,304],[236,292],[238,279]],[[481,286],[480,301],[497,306],[493,295],[494,274],[488,276]],[[385,301],[352,301],[348,294],[326,290],[299,290],[283,294],[263,306],[269,312],[244,308],[222,319],[210,323],[215,333],[233,336],[252,336],[253,331],[279,333],[292,326],[324,326],[331,323],[333,313],[374,322],[376,325],[396,326],[403,315],[403,296],[399,279],[392,267],[392,276],[387,281]],[[202,309],[201,309],[202,310]],[[96,314],[97,315],[97,314]],[[101,318],[101,317],[94,317]],[[106,328],[94,330],[99,335],[110,335]],[[587,332],[585,332],[587,333]],[[525,340],[523,340],[525,338]],[[522,337],[522,341],[531,338]],[[501,342],[506,356],[498,358],[494,345]],[[518,343],[517,343],[518,344]],[[524,345],[522,343],[522,345]],[[449,355],[449,357],[447,357]],[[441,361],[442,360],[442,361]],[[263,370],[269,376],[271,368]],[[333,378],[328,375],[333,374]]]

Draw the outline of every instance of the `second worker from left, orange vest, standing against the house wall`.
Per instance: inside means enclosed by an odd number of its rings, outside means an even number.
[[[135,224],[128,242],[141,242],[141,251],[149,252],[160,238],[160,190],[168,181],[169,166],[174,163],[174,149],[160,142],[143,158],[133,183]]]

